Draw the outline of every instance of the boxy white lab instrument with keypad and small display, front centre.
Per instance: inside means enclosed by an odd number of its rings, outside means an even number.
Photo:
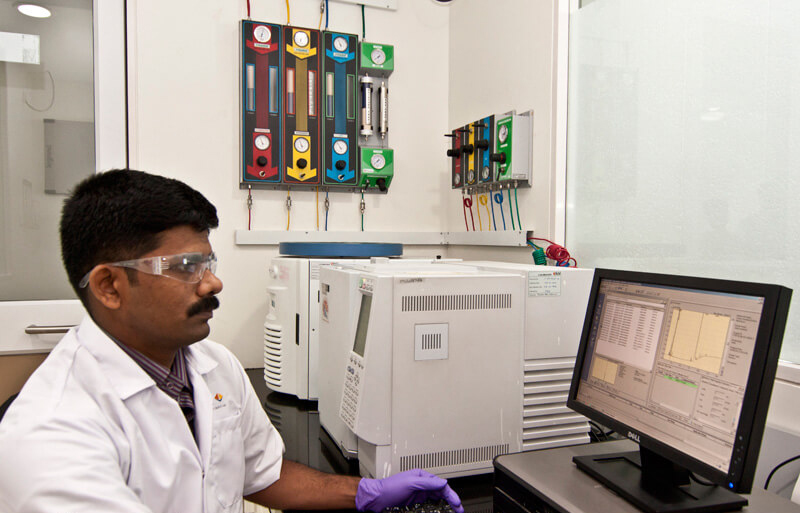
[[[521,450],[523,292],[449,263],[321,269],[320,423],[362,475],[478,474]]]

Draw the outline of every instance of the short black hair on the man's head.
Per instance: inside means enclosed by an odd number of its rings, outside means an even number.
[[[61,210],[61,258],[69,282],[88,308],[81,278],[96,265],[131,260],[154,250],[177,226],[198,232],[219,225],[202,194],[172,178],[114,169],[80,182]]]

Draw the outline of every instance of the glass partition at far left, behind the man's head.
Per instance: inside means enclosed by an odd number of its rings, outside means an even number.
[[[58,220],[95,171],[92,0],[0,0],[0,301],[74,298]]]

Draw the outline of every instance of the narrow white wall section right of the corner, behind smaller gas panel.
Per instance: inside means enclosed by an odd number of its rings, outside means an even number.
[[[553,162],[557,4],[557,0],[458,0],[450,8],[448,128],[493,113],[533,109],[533,187],[518,191],[520,218],[526,230],[551,240],[558,238]],[[449,170],[449,165],[445,159],[443,166]],[[447,229],[464,230],[460,191],[445,190],[443,197]],[[505,216],[510,230],[508,210]],[[500,224],[499,213],[496,221]],[[524,249],[459,247],[449,255],[532,261]]]

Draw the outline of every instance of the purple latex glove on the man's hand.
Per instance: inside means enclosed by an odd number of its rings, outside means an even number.
[[[464,513],[461,499],[450,488],[446,479],[416,468],[385,479],[362,479],[356,492],[356,509],[380,513],[393,506],[440,499],[450,503],[454,513]]]

